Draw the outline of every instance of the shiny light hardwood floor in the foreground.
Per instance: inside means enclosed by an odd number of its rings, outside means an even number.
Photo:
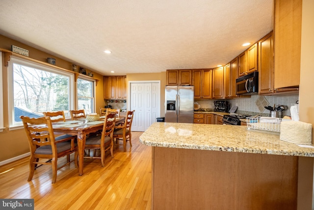
[[[151,209],[152,149],[138,142],[142,132],[132,132],[132,147],[115,146],[114,158],[84,159],[84,175],[71,163],[57,173],[52,184],[50,165],[28,178],[28,157],[0,166],[0,198],[33,198],[35,210],[149,210]],[[120,142],[122,144],[122,141]],[[74,155],[72,154],[71,158]],[[66,161],[58,159],[58,165]]]

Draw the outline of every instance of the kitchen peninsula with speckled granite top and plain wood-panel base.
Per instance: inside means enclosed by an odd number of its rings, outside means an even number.
[[[314,149],[246,126],[155,122],[152,208],[297,209],[298,158]]]

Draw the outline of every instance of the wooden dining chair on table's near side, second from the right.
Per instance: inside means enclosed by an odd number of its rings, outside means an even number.
[[[105,151],[110,149],[111,157],[113,157],[113,130],[116,121],[115,113],[107,113],[101,135],[91,136],[86,139],[85,149],[94,149],[94,154],[84,158],[100,158],[102,166],[105,167]],[[100,149],[101,156],[96,156],[96,150]]]

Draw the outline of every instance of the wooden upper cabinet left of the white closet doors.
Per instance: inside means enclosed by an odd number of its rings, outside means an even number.
[[[127,98],[127,77],[126,76],[105,76],[104,77],[104,98],[105,99],[126,99]]]

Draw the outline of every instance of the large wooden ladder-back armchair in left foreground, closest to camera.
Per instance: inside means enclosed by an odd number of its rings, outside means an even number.
[[[50,117],[29,118],[20,117],[23,121],[24,129],[28,140],[30,158],[29,158],[29,175],[27,181],[31,181],[34,176],[37,164],[52,165],[52,183],[57,179],[57,170],[69,165],[75,161],[78,167],[78,152],[74,140],[56,140],[52,129]],[[57,167],[59,157],[75,152],[73,161],[67,161],[64,165]],[[43,159],[44,161],[40,161]],[[46,161],[51,159],[51,161]]]

